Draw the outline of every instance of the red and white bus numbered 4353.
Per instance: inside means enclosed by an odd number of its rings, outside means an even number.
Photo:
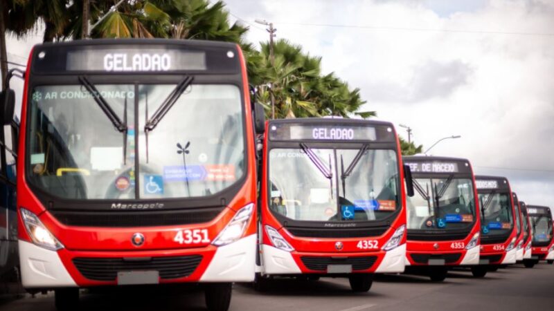
[[[449,267],[479,264],[479,205],[470,161],[405,156],[415,195],[407,199],[406,272],[443,281]]]

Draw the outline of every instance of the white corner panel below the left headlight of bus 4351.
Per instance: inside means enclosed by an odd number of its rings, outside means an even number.
[[[18,243],[24,288],[77,287],[57,252],[26,241],[19,240]]]

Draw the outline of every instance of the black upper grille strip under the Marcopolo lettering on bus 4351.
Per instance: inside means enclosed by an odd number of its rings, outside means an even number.
[[[50,211],[64,225],[76,227],[152,227],[207,223],[222,209],[169,211]]]

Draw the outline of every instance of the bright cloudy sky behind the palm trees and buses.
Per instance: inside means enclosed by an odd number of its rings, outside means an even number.
[[[224,2],[247,41],[267,41],[254,20],[272,21],[277,39],[360,88],[361,111],[404,138],[399,125],[410,126],[424,150],[461,135],[430,153],[468,158],[476,173],[506,176],[520,200],[554,207],[554,1]],[[8,59],[24,64],[41,37],[8,39]]]

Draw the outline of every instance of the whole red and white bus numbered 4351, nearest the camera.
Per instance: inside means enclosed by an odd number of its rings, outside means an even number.
[[[35,46],[17,162],[24,287],[76,310],[79,288],[202,282],[208,309],[226,310],[232,282],[254,278],[252,111],[236,44]]]

